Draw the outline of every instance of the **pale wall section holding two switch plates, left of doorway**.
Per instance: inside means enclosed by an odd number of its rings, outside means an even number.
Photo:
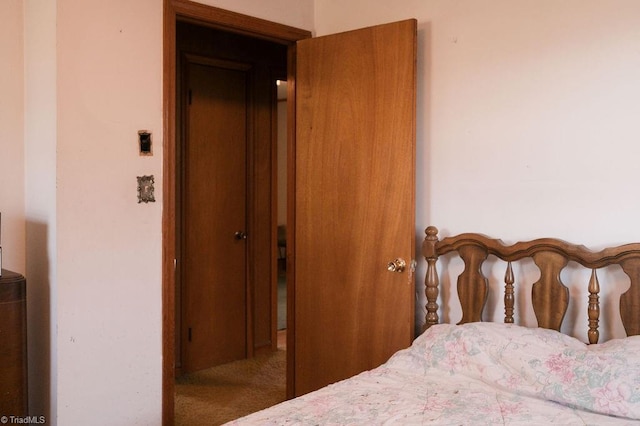
[[[57,5],[57,420],[157,424],[161,2]],[[143,129],[152,157],[138,153]],[[138,203],[142,175],[156,203]]]

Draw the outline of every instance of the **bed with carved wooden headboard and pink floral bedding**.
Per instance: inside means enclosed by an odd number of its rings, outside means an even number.
[[[640,423],[640,243],[600,251],[552,238],[507,245],[473,233],[439,239],[430,226],[422,253],[426,318],[409,348],[378,368],[231,424]],[[454,288],[443,288],[439,275],[455,259],[461,259],[461,272],[442,280],[455,281]],[[520,262],[535,265],[533,281],[516,273]],[[504,265],[499,285],[494,274],[485,276],[488,263]],[[586,269],[578,290],[563,282],[565,268]],[[602,272],[611,268],[623,279],[603,280],[602,288],[619,288],[617,293],[601,291],[599,274],[617,276]],[[483,321],[496,289],[504,317]],[[519,324],[522,291],[537,319],[532,327]],[[561,332],[574,293],[586,296],[578,301],[586,311],[582,338]],[[457,294],[458,324],[440,323],[443,294]],[[611,294],[616,300],[605,300]],[[611,307],[616,312],[609,315]],[[601,339],[605,312],[612,318],[605,323],[620,323],[625,336]]]

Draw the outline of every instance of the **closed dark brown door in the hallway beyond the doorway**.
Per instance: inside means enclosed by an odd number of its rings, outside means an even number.
[[[246,357],[247,73],[188,61],[183,371]]]

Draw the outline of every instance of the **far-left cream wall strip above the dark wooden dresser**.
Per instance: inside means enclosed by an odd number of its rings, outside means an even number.
[[[0,246],[2,266],[24,274],[23,10],[0,2]]]

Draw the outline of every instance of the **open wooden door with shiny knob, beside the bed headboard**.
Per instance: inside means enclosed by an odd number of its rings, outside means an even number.
[[[296,50],[289,396],[409,346],[415,303],[416,21]]]

